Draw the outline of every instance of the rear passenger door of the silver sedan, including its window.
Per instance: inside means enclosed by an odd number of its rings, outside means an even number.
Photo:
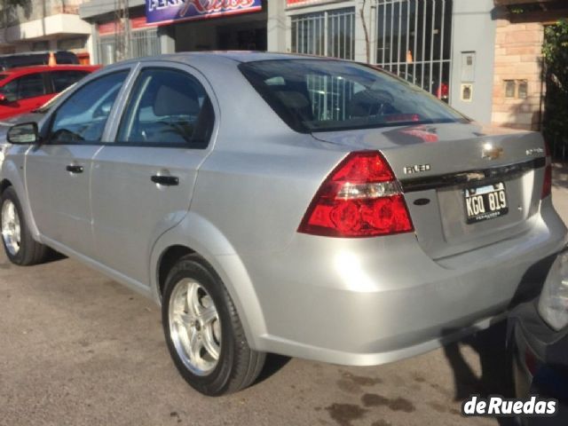
[[[205,82],[191,67],[142,67],[114,144],[93,161],[96,256],[138,284],[148,285],[154,242],[185,217],[211,149],[215,112]]]

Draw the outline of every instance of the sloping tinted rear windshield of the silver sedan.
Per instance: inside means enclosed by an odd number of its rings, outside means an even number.
[[[353,62],[279,59],[243,63],[240,68],[280,118],[297,131],[468,121],[417,86]]]

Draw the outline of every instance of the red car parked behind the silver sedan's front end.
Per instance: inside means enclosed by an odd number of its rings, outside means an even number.
[[[35,110],[99,68],[99,65],[42,65],[1,72],[0,120]]]

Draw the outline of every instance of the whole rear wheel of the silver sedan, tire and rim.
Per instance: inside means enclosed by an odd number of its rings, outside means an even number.
[[[168,274],[162,325],[177,370],[204,395],[244,389],[264,366],[265,353],[248,346],[231,296],[201,256],[182,257]]]

